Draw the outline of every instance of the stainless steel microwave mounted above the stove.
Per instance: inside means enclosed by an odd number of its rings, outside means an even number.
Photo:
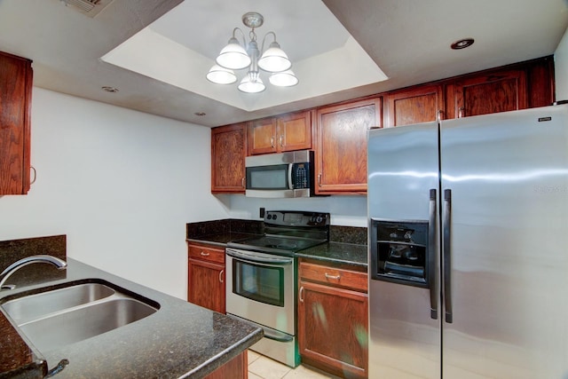
[[[290,198],[313,196],[313,152],[300,150],[245,158],[246,196]]]

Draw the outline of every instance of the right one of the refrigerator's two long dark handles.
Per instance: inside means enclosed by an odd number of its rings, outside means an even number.
[[[452,310],[452,249],[450,245],[450,237],[452,235],[452,190],[444,190],[444,217],[442,222],[442,230],[444,240],[442,242],[442,256],[444,265],[444,304],[446,308],[446,322],[451,324],[454,322]]]

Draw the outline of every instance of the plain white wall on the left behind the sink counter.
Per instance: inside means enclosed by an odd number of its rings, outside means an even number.
[[[27,196],[0,196],[0,241],[67,234],[67,255],[186,296],[185,223],[210,194],[209,128],[34,88]]]

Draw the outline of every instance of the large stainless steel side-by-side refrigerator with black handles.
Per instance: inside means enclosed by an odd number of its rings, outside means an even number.
[[[568,107],[368,133],[369,378],[568,378]]]

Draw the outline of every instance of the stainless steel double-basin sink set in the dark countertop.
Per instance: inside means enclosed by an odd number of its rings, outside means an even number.
[[[104,282],[22,294],[0,307],[39,351],[99,336],[158,311],[160,304]]]

